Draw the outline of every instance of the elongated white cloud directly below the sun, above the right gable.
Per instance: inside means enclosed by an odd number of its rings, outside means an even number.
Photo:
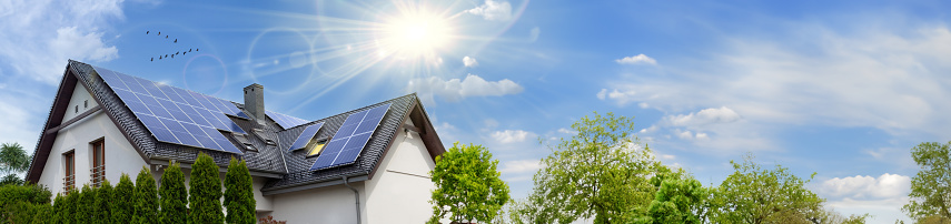
[[[501,96],[521,93],[524,88],[508,79],[499,81],[485,81],[475,74],[469,74],[465,80],[430,77],[428,79],[414,79],[407,88],[416,91],[420,98],[433,101],[434,95],[439,95],[446,101],[458,101],[466,96]]]

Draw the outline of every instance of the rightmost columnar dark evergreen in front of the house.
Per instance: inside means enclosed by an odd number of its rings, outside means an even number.
[[[225,206],[228,208],[228,223],[254,224],[255,193],[251,174],[244,160],[231,157],[228,173],[225,174]]]

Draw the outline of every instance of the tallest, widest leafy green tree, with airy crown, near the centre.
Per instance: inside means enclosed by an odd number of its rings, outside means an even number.
[[[595,223],[622,223],[646,213],[655,187],[648,182],[660,166],[651,150],[632,133],[632,118],[597,112],[584,116],[571,139],[548,145],[535,174],[535,195],[542,203],[542,223],[572,223],[594,217]]]

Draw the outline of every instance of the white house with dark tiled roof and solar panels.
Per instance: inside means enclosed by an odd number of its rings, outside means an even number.
[[[265,110],[259,84],[244,91],[236,103],[70,60],[26,179],[59,193],[102,180],[115,185],[142,166],[158,182],[176,162],[188,180],[190,164],[206,153],[222,179],[231,157],[247,162],[258,216],[430,216],[428,172],[445,149],[416,94],[307,121]]]

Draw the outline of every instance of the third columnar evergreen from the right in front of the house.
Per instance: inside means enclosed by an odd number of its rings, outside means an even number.
[[[188,222],[188,190],[185,189],[185,174],[178,163],[165,169],[161,174],[161,211],[159,211],[159,223],[187,223]]]

